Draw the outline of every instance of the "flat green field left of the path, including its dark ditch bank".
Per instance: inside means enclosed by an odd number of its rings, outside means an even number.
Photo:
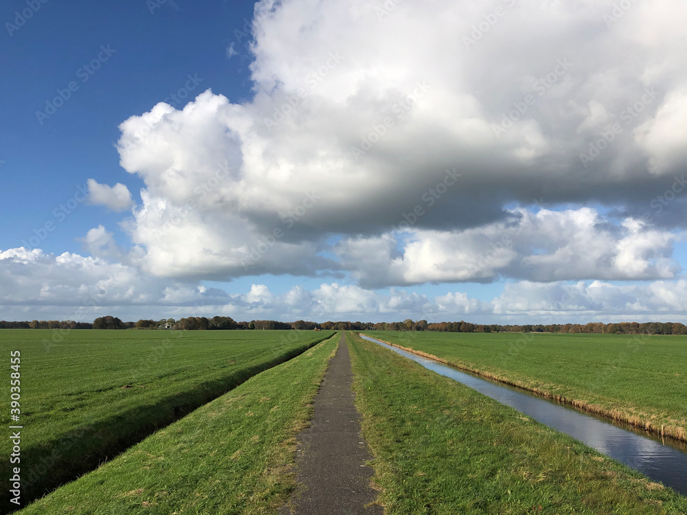
[[[93,470],[331,334],[74,330],[45,345],[53,331],[0,331],[3,369],[10,350],[21,351],[23,499]],[[9,398],[3,381],[1,413],[9,413]],[[10,477],[9,445],[1,440],[2,477]]]

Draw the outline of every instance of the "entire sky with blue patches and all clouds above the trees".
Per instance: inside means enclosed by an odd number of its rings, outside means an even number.
[[[8,0],[0,319],[685,322],[686,17]]]

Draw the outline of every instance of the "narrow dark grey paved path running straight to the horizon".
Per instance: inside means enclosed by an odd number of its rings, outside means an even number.
[[[311,426],[299,437],[297,481],[302,483],[280,513],[296,515],[381,515],[370,488],[371,459],[360,436],[360,415],[353,404],[352,369],[343,335],[315,396]]]

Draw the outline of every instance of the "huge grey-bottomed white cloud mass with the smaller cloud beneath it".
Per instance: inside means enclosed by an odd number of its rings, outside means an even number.
[[[380,9],[261,1],[252,100],[208,90],[121,124],[121,165],[146,186],[126,226],[144,270],[344,269],[368,286],[675,275],[660,227],[684,227],[684,204],[650,206],[687,160],[684,3],[622,16],[610,0]],[[535,199],[548,219],[512,207]],[[601,220],[592,202],[622,217]],[[480,264],[514,217],[522,234]]]

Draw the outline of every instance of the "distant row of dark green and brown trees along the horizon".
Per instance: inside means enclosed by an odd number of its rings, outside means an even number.
[[[186,317],[174,319],[140,319],[124,322],[108,315],[98,317],[93,323],[73,320],[32,320],[23,322],[0,321],[0,329],[170,329],[170,330],[348,330],[348,331],[434,331],[434,332],[551,332],[588,334],[687,334],[687,326],[679,322],[589,322],[586,324],[475,324],[466,321],[427,323],[426,320],[403,322],[350,322],[326,321],[322,323],[297,320],[280,322],[276,320],[252,320],[236,322],[231,317]]]

